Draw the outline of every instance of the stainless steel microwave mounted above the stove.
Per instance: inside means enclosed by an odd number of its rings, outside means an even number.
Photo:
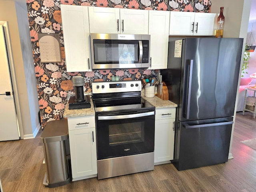
[[[150,67],[150,35],[90,34],[93,69]]]

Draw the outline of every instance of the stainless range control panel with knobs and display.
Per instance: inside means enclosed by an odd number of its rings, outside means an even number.
[[[141,88],[140,80],[92,82],[93,94],[141,91]]]

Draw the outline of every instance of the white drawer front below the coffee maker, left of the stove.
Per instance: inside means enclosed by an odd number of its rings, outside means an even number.
[[[95,117],[74,117],[68,118],[68,130],[84,129],[95,127]]]

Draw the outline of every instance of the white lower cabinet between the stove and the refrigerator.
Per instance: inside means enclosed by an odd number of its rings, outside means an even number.
[[[175,113],[176,108],[156,109],[154,164],[173,160]]]

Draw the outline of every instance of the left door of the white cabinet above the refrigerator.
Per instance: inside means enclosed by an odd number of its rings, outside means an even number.
[[[170,35],[193,35],[194,12],[170,11]]]

